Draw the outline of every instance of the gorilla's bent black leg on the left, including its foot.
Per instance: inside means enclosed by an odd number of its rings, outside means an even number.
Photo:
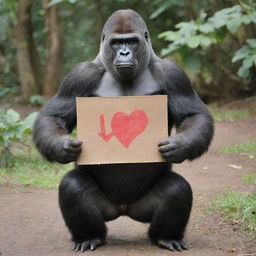
[[[59,187],[59,205],[75,243],[74,251],[94,250],[101,245],[107,231],[104,221],[119,216],[86,170],[74,169],[64,176]]]

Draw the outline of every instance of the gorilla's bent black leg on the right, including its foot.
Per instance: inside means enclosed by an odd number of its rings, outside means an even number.
[[[192,206],[189,183],[175,172],[165,172],[143,198],[130,205],[128,216],[151,222],[151,241],[168,250],[186,250],[183,241]]]

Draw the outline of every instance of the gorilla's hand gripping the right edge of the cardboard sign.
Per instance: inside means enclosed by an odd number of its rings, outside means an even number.
[[[181,163],[189,155],[189,143],[183,134],[160,141],[158,147],[162,157],[171,163]]]

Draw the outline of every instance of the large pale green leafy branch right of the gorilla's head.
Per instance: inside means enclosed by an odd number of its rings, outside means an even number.
[[[256,23],[256,11],[243,14],[239,5],[222,9],[208,19],[206,13],[201,12],[197,20],[176,24],[177,31],[166,31],[159,35],[159,38],[172,42],[162,54],[170,54],[183,46],[208,48],[211,44],[223,42],[228,31],[236,33],[242,24],[250,23]],[[223,30],[218,30],[223,27],[227,29],[224,35]]]

